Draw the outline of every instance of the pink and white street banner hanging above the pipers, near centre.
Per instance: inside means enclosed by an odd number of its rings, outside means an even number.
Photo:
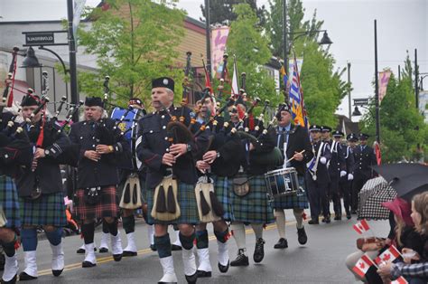
[[[211,30],[211,73],[214,78],[223,71],[223,54],[228,42],[228,26],[221,26]]]

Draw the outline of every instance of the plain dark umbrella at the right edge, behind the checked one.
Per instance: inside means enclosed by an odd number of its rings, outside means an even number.
[[[428,190],[428,166],[421,164],[391,164],[373,166],[396,190],[398,196],[411,200],[414,194]]]

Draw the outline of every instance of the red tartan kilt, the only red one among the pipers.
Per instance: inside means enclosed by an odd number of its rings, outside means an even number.
[[[76,219],[93,220],[104,217],[119,216],[119,201],[116,196],[116,186],[107,185],[101,188],[101,197],[98,204],[88,205],[85,203],[85,190],[78,189],[75,194]]]

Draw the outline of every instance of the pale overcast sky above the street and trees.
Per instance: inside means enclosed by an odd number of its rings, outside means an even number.
[[[215,0],[211,0],[215,1]],[[317,19],[323,20],[333,42],[330,52],[336,59],[336,68],[351,63],[353,98],[373,96],[371,81],[374,78],[374,28],[377,19],[377,46],[379,71],[390,67],[397,73],[403,66],[405,51],[414,61],[418,50],[421,72],[428,72],[428,1],[426,0],[302,0],[305,18],[317,10]],[[87,0],[97,5],[98,0]],[[196,19],[201,16],[203,0],[181,0],[179,7]],[[58,20],[67,16],[66,0],[0,0],[0,21]],[[266,5],[267,0],[258,0]],[[25,8],[23,8],[25,7]],[[343,78],[347,79],[346,74]],[[302,78],[304,80],[304,78]],[[428,85],[428,82],[425,82]],[[348,99],[340,105],[340,114],[348,114]]]

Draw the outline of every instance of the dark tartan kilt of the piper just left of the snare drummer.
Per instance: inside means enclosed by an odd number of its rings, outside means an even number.
[[[238,175],[237,175],[238,177]],[[271,223],[274,210],[267,200],[265,175],[254,175],[249,180],[249,193],[240,197],[232,193],[232,213],[236,222]],[[233,189],[231,189],[233,191]]]

